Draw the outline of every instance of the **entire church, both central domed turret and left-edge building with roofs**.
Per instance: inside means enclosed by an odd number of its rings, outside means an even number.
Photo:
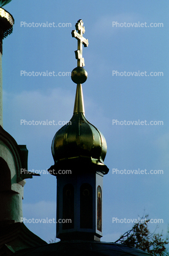
[[[3,2],[7,3],[1,0],[1,6]],[[0,8],[1,43],[12,32],[13,23],[12,15]],[[28,169],[28,150],[2,128],[0,115],[0,255],[149,255],[133,247],[100,242],[103,175],[108,173],[104,164],[107,143],[84,115],[81,84],[88,74],[83,68],[82,47],[88,47],[88,40],[83,37],[82,20],[78,20],[75,28],[72,37],[78,40],[78,50],[77,67],[72,71],[72,80],[77,83],[73,116],[54,135],[51,145],[54,165],[48,169],[57,178],[56,237],[61,241],[47,244],[20,222],[24,179],[34,174],[20,173],[21,168]],[[2,104],[0,107],[2,110]],[[71,170],[71,174],[60,174],[60,170]],[[71,221],[59,223],[59,219]]]

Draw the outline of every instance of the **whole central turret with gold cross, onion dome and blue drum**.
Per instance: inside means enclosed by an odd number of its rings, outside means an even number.
[[[54,165],[50,173],[52,171],[57,177],[56,237],[61,241],[100,241],[103,175],[108,173],[103,162],[107,143],[102,133],[84,115],[81,84],[86,81],[88,73],[83,68],[82,47],[88,47],[88,39],[83,37],[85,30],[82,20],[78,20],[75,28],[72,37],[78,40],[78,50],[75,51],[77,67],[71,75],[77,84],[73,116],[56,132],[51,145]]]

